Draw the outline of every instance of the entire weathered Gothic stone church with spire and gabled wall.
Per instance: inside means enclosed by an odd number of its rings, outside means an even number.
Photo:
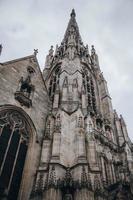
[[[60,46],[0,64],[0,199],[132,200],[133,145],[75,11]]]

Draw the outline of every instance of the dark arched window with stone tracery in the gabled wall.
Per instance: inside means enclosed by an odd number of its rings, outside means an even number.
[[[28,143],[25,118],[18,111],[0,113],[0,199],[17,199]]]

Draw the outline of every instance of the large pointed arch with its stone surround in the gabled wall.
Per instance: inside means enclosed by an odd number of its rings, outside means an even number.
[[[1,198],[25,199],[22,196],[29,193],[36,141],[35,126],[22,108],[14,105],[0,106]]]

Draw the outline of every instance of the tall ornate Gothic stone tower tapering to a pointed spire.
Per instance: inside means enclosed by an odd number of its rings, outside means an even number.
[[[72,10],[60,46],[43,71],[50,97],[31,198],[132,199],[132,144],[112,108],[94,46],[84,46]]]

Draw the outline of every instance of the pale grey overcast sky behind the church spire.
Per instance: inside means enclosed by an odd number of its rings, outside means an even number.
[[[63,39],[72,8],[84,44],[95,45],[113,107],[133,141],[133,0],[0,0],[0,62],[37,48],[43,69],[50,46]]]

